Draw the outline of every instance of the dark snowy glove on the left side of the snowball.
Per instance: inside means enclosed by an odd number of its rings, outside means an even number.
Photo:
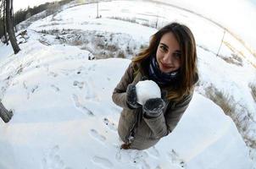
[[[139,108],[140,105],[139,103],[137,103],[137,99],[136,99],[136,86],[135,85],[128,85],[127,86],[127,90],[126,90],[126,101],[128,103],[128,105],[131,107],[131,108]]]

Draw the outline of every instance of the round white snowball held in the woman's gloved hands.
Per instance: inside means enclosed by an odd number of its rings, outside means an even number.
[[[153,80],[139,81],[136,84],[137,102],[144,105],[148,99],[161,98],[161,90]]]

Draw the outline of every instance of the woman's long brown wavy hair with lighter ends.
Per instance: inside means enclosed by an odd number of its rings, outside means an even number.
[[[152,35],[149,46],[138,53],[136,57],[133,57],[132,62],[142,63],[147,57],[155,55],[162,36],[169,32],[175,35],[175,39],[181,47],[181,72],[179,85],[176,88],[168,87],[167,98],[171,101],[179,101],[184,95],[188,95],[192,91],[198,80],[196,42],[192,31],[186,25],[179,23],[165,25]]]

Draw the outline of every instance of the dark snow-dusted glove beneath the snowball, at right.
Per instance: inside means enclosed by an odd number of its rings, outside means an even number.
[[[164,106],[165,102],[161,98],[148,99],[143,106],[144,117],[159,117]]]

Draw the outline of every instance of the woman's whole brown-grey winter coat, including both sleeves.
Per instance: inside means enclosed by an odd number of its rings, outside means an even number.
[[[118,134],[120,139],[128,143],[128,137],[131,134],[131,128],[135,125],[134,139],[131,142],[131,149],[144,150],[154,144],[159,139],[170,134],[180,121],[181,116],[186,111],[186,107],[192,100],[192,94],[184,96],[179,102],[165,101],[163,113],[159,117],[146,118],[138,120],[136,123],[137,114],[142,114],[142,107],[138,109],[131,109],[126,103],[126,88],[129,84],[136,85],[137,82],[147,77],[143,71],[139,71],[135,75],[134,63],[131,63],[126,69],[120,83],[115,87],[112,99],[118,106],[123,107],[120,115]],[[163,89],[161,89],[163,90]],[[136,124],[135,124],[136,123]]]

